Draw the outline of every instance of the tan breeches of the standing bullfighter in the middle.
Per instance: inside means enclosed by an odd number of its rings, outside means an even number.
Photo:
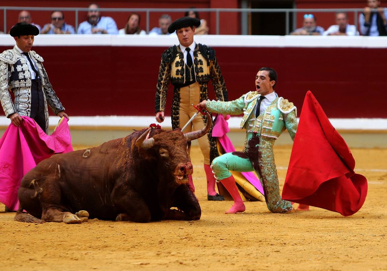
[[[200,87],[199,83],[193,83],[192,85],[180,88],[180,109],[179,109],[179,122],[180,127],[183,127],[188,120],[196,113],[196,109],[191,105],[197,105],[200,100]],[[188,124],[183,130],[184,133],[190,131],[197,131],[204,128],[204,121],[202,114],[197,114],[194,120]],[[202,136],[198,139],[200,150],[202,150],[204,164],[210,164],[210,144],[208,142],[208,136]]]

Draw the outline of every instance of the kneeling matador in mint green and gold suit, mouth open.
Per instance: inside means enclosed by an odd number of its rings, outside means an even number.
[[[240,128],[247,130],[244,150],[223,154],[215,158],[211,165],[215,178],[221,181],[234,200],[226,214],[244,212],[246,209],[230,170],[257,173],[264,188],[267,208],[271,212],[281,213],[292,209],[291,203],[282,200],[279,193],[273,145],[285,129],[288,129],[294,140],[298,126],[297,113],[293,103],[278,97],[274,92],[276,81],[276,71],[263,67],[255,78],[256,91],[250,91],[229,102],[204,100],[198,104],[210,112],[243,114]]]

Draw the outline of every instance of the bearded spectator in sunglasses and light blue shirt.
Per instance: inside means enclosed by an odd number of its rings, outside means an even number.
[[[99,5],[91,3],[87,21],[81,22],[77,34],[118,34],[117,24],[111,17],[101,16]]]

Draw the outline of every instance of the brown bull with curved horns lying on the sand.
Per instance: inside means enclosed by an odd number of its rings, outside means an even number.
[[[89,150],[53,155],[23,177],[15,220],[81,223],[89,215],[135,222],[200,219],[199,202],[188,185],[193,171],[188,142],[209,131],[207,117],[200,131],[149,128]]]

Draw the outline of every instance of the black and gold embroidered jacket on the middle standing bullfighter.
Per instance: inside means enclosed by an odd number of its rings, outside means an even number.
[[[215,50],[203,44],[196,44],[193,52],[193,67],[195,81],[200,86],[201,92],[207,90],[207,83],[211,80],[214,86],[217,100],[227,101],[227,89],[224,84],[224,79],[221,74],[220,67],[217,63]],[[164,51],[161,55],[161,63],[159,68],[159,77],[157,82],[155,113],[165,111],[167,90],[171,82],[174,87],[174,92],[186,83],[187,74],[189,73],[187,65],[184,63],[184,54],[179,46],[172,46]],[[175,95],[175,93],[174,93]],[[205,93],[205,96],[208,96]],[[202,98],[202,97],[200,97]]]

